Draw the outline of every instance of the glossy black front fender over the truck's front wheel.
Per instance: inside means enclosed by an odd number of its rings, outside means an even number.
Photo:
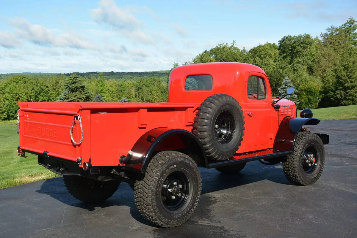
[[[273,149],[277,152],[292,151],[294,148],[296,136],[302,130],[303,125],[317,125],[320,120],[317,118],[284,118],[278,128],[275,136]],[[316,133],[322,140],[323,144],[328,144],[329,136],[326,134]]]

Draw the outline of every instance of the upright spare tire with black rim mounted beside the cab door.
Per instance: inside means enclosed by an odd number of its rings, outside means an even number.
[[[208,159],[232,157],[244,135],[244,116],[237,100],[227,94],[206,98],[198,107],[193,134],[201,141]]]

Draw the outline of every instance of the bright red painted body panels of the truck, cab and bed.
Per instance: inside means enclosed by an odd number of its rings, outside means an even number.
[[[186,91],[185,79],[190,75],[209,74],[212,90]],[[259,76],[265,80],[266,99],[252,100],[247,95],[247,79]],[[273,147],[280,121],[295,117],[296,106],[290,100],[272,107],[270,84],[264,71],[244,63],[205,63],[175,68],[170,74],[168,103],[18,103],[20,106],[21,149],[68,160],[82,158],[93,166],[119,165],[121,155],[127,155],[136,141],[147,131],[166,127],[192,131],[195,109],[207,97],[224,93],[236,98],[245,117],[245,135],[237,151],[245,153]],[[74,145],[70,139],[71,122],[81,115],[83,141]],[[78,121],[72,135],[80,141]],[[166,149],[177,143],[168,143]],[[173,147],[174,146],[174,147]],[[165,150],[165,145],[160,149]],[[236,156],[234,159],[240,159]]]

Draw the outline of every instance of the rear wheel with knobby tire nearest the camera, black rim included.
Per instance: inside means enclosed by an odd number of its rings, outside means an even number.
[[[195,211],[201,187],[200,171],[190,157],[162,151],[151,159],[145,175],[135,181],[136,207],[141,216],[157,226],[179,226]]]

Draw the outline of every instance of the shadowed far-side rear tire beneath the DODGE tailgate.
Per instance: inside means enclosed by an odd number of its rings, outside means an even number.
[[[67,190],[72,196],[86,203],[101,203],[118,189],[120,181],[97,181],[77,175],[63,176]]]

